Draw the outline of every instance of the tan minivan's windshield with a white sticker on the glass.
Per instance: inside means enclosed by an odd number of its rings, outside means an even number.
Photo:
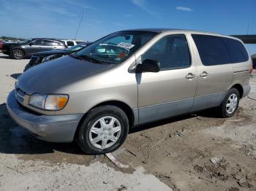
[[[102,63],[121,63],[146,44],[157,33],[148,31],[120,31],[99,39],[75,54]]]

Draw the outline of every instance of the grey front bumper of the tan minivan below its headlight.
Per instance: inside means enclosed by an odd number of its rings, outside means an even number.
[[[15,122],[50,142],[71,142],[83,114],[39,115],[24,109],[15,98],[14,90],[8,95],[7,110]]]

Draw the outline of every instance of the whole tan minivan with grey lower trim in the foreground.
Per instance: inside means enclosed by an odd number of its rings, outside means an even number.
[[[21,74],[7,99],[13,120],[55,142],[98,155],[129,128],[216,107],[231,117],[249,93],[243,42],[198,31],[118,31]]]

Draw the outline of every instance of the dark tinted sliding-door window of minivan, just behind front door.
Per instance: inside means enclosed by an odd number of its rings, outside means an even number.
[[[220,36],[192,34],[201,61],[205,66],[231,63],[225,41]]]

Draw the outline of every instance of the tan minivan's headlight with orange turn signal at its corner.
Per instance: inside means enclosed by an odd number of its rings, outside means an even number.
[[[38,109],[57,111],[67,105],[69,95],[34,93],[29,98],[29,105]]]

